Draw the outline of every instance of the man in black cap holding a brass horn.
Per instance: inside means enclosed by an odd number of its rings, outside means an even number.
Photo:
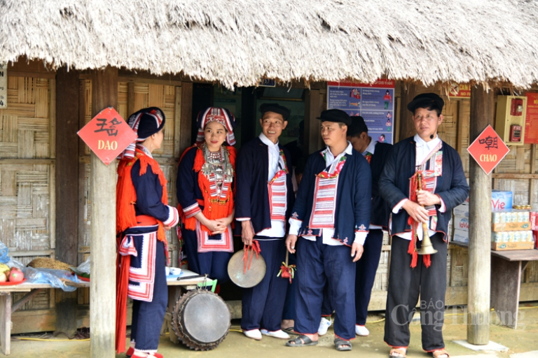
[[[406,357],[420,294],[422,349],[434,358],[448,358],[442,333],[446,233],[450,212],[467,198],[469,185],[460,155],[437,136],[443,105],[434,93],[419,94],[408,104],[417,134],[394,145],[379,182],[380,194],[392,208],[384,338],[392,347],[390,357]]]

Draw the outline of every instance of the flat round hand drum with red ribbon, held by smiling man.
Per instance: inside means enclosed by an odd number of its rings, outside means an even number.
[[[265,266],[265,260],[263,259],[261,254],[259,254],[256,258],[256,253],[253,252],[251,255],[254,255],[254,257],[252,257],[250,269],[247,269],[247,272],[243,273],[243,255],[244,250],[237,251],[235,252],[235,254],[233,254],[232,258],[230,259],[230,262],[228,262],[228,275],[230,276],[230,280],[232,280],[232,282],[239,287],[254,287],[258,285],[261,280],[263,280],[263,277],[265,277],[265,271],[267,270],[267,266]]]

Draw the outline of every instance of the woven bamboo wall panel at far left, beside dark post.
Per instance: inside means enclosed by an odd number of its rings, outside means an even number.
[[[28,264],[55,248],[55,80],[9,76],[0,109],[0,238]],[[13,294],[17,301],[24,293]],[[44,290],[21,310],[53,308]]]

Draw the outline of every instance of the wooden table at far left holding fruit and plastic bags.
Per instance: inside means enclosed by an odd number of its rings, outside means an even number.
[[[65,281],[65,285],[77,288],[90,287],[90,282]],[[20,285],[0,286],[0,348],[4,355],[11,350],[11,314],[21,308],[41,289],[52,289],[48,283],[21,283]],[[28,292],[19,301],[11,303],[11,292]]]

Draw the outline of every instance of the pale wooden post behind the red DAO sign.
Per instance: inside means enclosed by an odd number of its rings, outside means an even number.
[[[118,107],[118,69],[107,66],[92,76],[92,116]],[[106,166],[92,152],[90,357],[115,357],[116,330],[116,163]]]

